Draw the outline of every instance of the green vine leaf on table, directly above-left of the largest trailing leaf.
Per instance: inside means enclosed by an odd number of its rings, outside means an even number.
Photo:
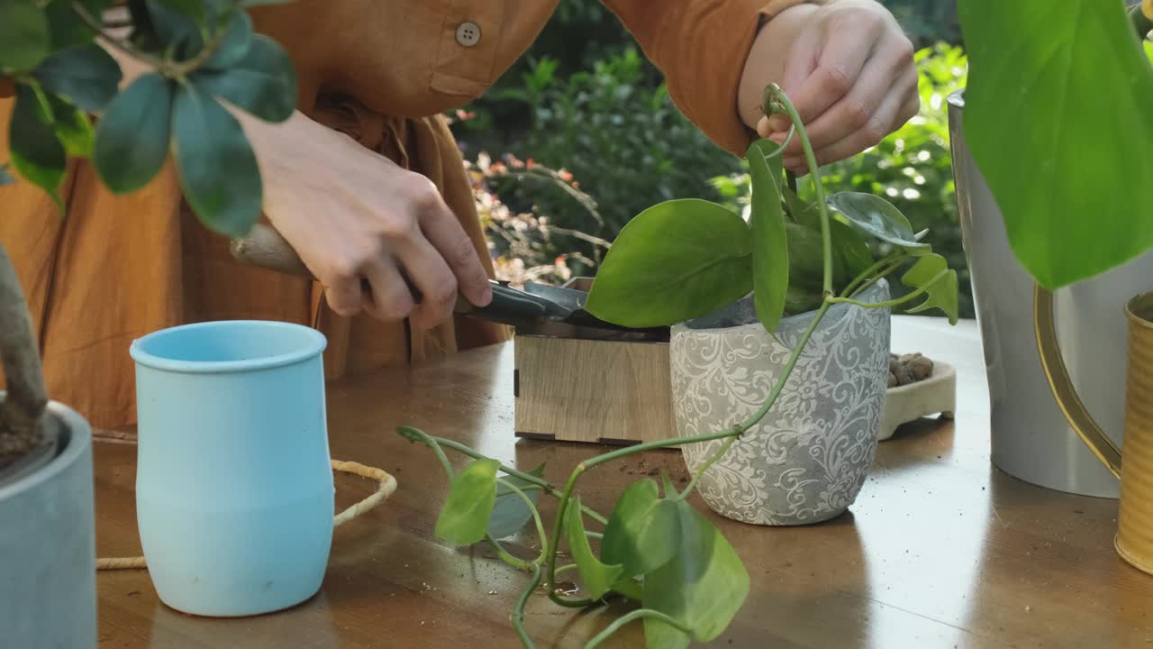
[[[601,558],[623,566],[624,576],[632,577],[672,559],[679,540],[676,505],[657,494],[656,482],[643,478],[617,500],[601,539]]]

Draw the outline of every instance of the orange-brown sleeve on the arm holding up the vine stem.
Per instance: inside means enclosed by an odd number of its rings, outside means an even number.
[[[737,110],[745,60],[763,21],[829,0],[602,0],[665,75],[669,96],[718,147],[744,156],[756,134]]]

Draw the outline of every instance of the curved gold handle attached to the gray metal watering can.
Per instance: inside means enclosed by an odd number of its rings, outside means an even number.
[[[1041,370],[1053,390],[1053,397],[1057,401],[1065,420],[1072,426],[1077,437],[1088,446],[1093,455],[1100,460],[1109,471],[1121,477],[1121,449],[1105,434],[1097,419],[1090,415],[1088,409],[1082,403],[1077,389],[1073,387],[1069,370],[1061,356],[1061,346],[1057,344],[1057,328],[1053,318],[1053,293],[1038,285],[1033,291],[1033,328],[1037,334],[1037,351],[1041,357]]]

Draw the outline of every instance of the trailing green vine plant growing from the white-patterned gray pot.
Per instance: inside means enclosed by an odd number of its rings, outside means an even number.
[[[544,477],[543,464],[525,472],[455,441],[399,428],[404,438],[432,449],[450,480],[436,535],[459,545],[487,543],[505,562],[528,573],[511,613],[525,647],[533,647],[525,628],[525,606],[542,582],[545,595],[563,607],[583,609],[620,598],[636,604],[591,637],[586,644],[589,649],[634,621],[643,624],[646,646],[651,649],[684,648],[717,637],[744,604],[749,576],[732,545],[688,502],[703,472],[769,412],[831,306],[897,307],[924,298],[914,311],[935,307],[950,323],[957,320],[957,273],[944,258],[933,253],[884,199],[854,193],[826,199],[805,126],[789,97],[769,87],[763,106],[791,118],[790,137],[800,137],[817,188],[815,202],[801,201],[790,186],[781,147],[759,140],[746,154],[753,187],[747,223],[728,208],[701,200],[668,201],[645,210],[612,244],[586,305],[610,322],[660,327],[713,313],[752,292],[758,318],[770,335],[784,314],[813,312],[783,373],[752,417],[713,433],[590,457],[559,487]],[[890,252],[873,253],[866,237],[888,244],[883,248]],[[904,297],[882,303],[857,299],[906,267],[902,282],[912,290]],[[621,493],[608,516],[581,501],[576,486],[589,471],[638,453],[711,440],[725,442],[684,490],[668,476],[661,484],[642,478]],[[472,460],[455,471],[445,450]],[[548,528],[537,509],[542,493],[557,499]],[[500,540],[529,522],[541,550],[536,557],[517,557]],[[567,565],[559,561],[564,547],[572,558]],[[558,590],[558,575],[568,570],[579,575],[580,597]]]

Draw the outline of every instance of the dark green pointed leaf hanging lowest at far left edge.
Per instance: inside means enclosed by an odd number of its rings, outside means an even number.
[[[52,115],[32,88],[16,87],[16,106],[8,125],[12,165],[29,182],[56,196],[65,179],[67,155],[52,129]]]

